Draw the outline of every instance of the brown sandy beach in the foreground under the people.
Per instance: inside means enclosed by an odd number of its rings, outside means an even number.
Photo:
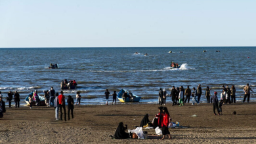
[[[178,107],[168,103],[173,122],[188,128],[170,129],[173,139],[163,141],[154,129],[145,130],[148,139],[109,137],[119,122],[134,129],[146,113],[152,120],[159,105],[75,105],[74,119],[66,122],[54,120],[53,107],[7,107],[7,113],[0,119],[0,143],[256,143],[255,104],[223,105],[223,115],[214,116],[211,104]]]

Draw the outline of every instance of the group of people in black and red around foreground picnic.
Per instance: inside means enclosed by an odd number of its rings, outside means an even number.
[[[161,140],[165,138],[165,135],[167,136],[168,139],[171,139],[171,135],[169,132],[169,124],[171,122],[170,114],[167,109],[167,107],[158,107],[159,113],[155,115],[155,118],[152,120],[152,122],[148,119],[149,115],[146,114],[141,122],[140,126],[141,128],[146,128],[146,127],[152,127],[154,129],[161,129],[161,133],[163,137]],[[138,126],[137,126],[138,127]],[[116,132],[114,136],[112,136],[115,139],[127,139],[127,138],[134,138],[132,135],[134,134],[129,134],[125,132],[127,130],[127,124],[123,126],[123,122],[119,122],[119,125],[116,129]]]

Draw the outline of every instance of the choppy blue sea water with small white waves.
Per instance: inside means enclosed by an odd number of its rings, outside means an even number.
[[[0,48],[0,53],[0,90],[4,97],[18,90],[22,104],[32,90],[43,95],[53,86],[60,92],[63,79],[77,81],[77,89],[64,90],[64,95],[75,98],[79,90],[82,104],[104,104],[106,88],[111,94],[129,90],[142,96],[140,103],[157,103],[158,90],[165,88],[170,94],[173,85],[202,84],[203,93],[209,86],[211,94],[220,95],[222,85],[233,84],[237,101],[246,83],[256,91],[256,47]],[[171,62],[181,68],[171,69]],[[49,63],[60,68],[48,69]],[[201,100],[205,102],[205,96]],[[255,94],[251,100],[256,100]]]

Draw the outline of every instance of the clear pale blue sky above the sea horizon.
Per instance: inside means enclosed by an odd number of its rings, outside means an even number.
[[[256,46],[253,0],[0,0],[0,48]]]

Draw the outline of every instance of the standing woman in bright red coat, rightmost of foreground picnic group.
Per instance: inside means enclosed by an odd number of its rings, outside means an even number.
[[[169,112],[167,110],[167,107],[163,107],[163,119],[162,119],[162,122],[161,122],[161,131],[163,132],[163,138],[161,138],[161,140],[163,140],[165,138],[165,135],[168,135],[169,136],[169,139],[171,139],[171,135],[170,135],[170,132],[169,132],[169,129],[168,129],[168,125],[170,123],[169,121],[169,118],[170,118],[170,115],[169,115]]]

